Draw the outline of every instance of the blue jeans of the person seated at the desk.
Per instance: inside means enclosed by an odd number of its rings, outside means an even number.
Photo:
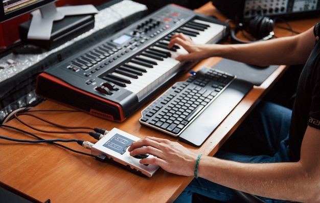
[[[287,147],[290,120],[291,109],[261,102],[215,156],[242,163],[289,162]],[[194,178],[175,203],[192,202],[193,193],[222,202],[241,202],[232,189],[203,178]],[[267,202],[282,202],[263,197],[261,199]]]

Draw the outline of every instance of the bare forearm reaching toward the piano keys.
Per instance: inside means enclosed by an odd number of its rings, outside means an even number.
[[[205,44],[197,46],[192,55],[202,55],[199,58],[219,56],[260,66],[291,65],[305,63],[313,45],[313,29],[309,29],[300,35],[254,43]]]

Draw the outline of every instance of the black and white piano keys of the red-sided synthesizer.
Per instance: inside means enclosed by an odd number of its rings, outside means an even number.
[[[220,30],[220,27],[223,29],[223,26],[217,27],[211,22],[196,19],[188,22],[188,26],[181,27],[180,30],[192,35],[190,38],[195,42],[207,43],[212,40],[215,33],[220,32],[214,29]],[[115,84],[121,84],[124,89],[136,94],[139,100],[143,99],[178,71],[181,65],[175,58],[180,54],[188,53],[177,45],[173,49],[168,49],[171,37],[172,34],[169,34],[165,40],[155,42],[153,46],[142,50],[140,55],[132,57],[129,62],[120,65],[113,73],[103,78]]]

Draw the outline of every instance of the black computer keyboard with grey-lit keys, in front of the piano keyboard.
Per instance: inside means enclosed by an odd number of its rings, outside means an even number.
[[[235,79],[235,75],[202,67],[200,71],[192,72],[186,81],[176,82],[143,109],[139,121],[177,137]]]

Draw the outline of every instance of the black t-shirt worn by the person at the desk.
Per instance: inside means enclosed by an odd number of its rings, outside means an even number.
[[[301,144],[307,126],[310,125],[320,129],[319,27],[320,22],[314,26],[315,44],[300,75],[296,99],[292,110],[289,134],[289,157],[291,161],[300,160]]]

